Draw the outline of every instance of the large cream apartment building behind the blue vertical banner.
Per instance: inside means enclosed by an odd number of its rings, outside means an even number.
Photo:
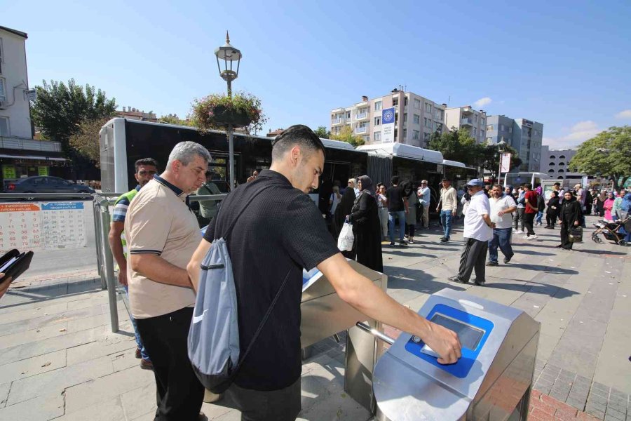
[[[421,95],[393,89],[388,95],[362,100],[348,107],[331,110],[330,130],[339,134],[350,126],[367,144],[381,143],[381,111],[395,109],[394,141],[424,147],[435,131],[444,130],[445,106]]]

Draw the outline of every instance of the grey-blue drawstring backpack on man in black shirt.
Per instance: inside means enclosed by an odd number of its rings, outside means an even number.
[[[263,187],[256,192],[252,199],[266,188]],[[248,205],[250,203],[251,199]],[[220,239],[217,239],[218,229],[215,226],[215,239],[201,262],[195,310],[189,330],[189,359],[193,370],[201,384],[215,394],[223,393],[232,384],[241,363],[252,349],[289,278],[287,273],[252,341],[239,359],[236,288],[226,241],[245,208],[247,206],[240,210],[226,234]],[[218,217],[219,215],[215,218]]]

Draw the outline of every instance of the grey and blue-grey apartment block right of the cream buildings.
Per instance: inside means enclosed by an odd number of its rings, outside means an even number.
[[[527,119],[511,119],[503,115],[488,116],[485,141],[488,145],[496,145],[503,141],[517,151],[520,159],[522,159],[522,165],[520,168],[513,168],[513,171],[521,171],[522,173],[545,172],[541,171],[542,123]]]

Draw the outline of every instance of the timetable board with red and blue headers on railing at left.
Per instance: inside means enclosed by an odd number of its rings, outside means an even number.
[[[87,246],[81,201],[0,203],[0,250],[52,250]]]

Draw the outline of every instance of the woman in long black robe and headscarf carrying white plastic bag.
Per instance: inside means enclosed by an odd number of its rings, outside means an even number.
[[[348,215],[348,220],[353,223],[357,261],[377,272],[384,272],[384,263],[381,259],[381,226],[372,180],[367,175],[362,175],[358,178],[357,187],[360,194],[353,203],[351,214]]]

